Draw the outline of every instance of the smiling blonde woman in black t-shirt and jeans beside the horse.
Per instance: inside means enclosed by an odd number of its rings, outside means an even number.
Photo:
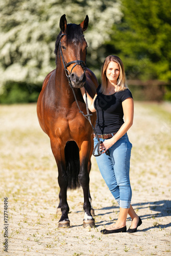
[[[134,103],[130,90],[125,87],[124,66],[119,57],[114,55],[106,57],[101,70],[101,80],[93,99],[87,93],[90,111],[97,111],[95,129],[102,141],[100,151],[103,152],[96,157],[96,160],[105,183],[120,207],[116,223],[101,232],[103,234],[126,232],[126,218],[129,214],[132,224],[127,232],[133,233],[142,224],[131,205],[129,173],[132,144],[126,134],[133,124]],[[85,89],[80,90],[83,99],[86,100]],[[94,146],[97,143],[97,138],[94,138]],[[104,154],[107,150],[109,155]]]

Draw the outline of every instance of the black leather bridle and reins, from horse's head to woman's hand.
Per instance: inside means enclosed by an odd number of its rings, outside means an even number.
[[[60,40],[61,40],[61,38],[62,38],[63,35],[66,35],[66,34],[61,34]],[[84,35],[82,35],[82,36],[84,36]],[[102,154],[102,151],[99,150],[101,141],[100,141],[100,139],[99,139],[99,137],[98,137],[98,134],[97,134],[97,132],[96,132],[96,130],[95,130],[95,127],[93,126],[93,124],[92,124],[92,122],[91,122],[91,118],[90,118],[90,117],[92,116],[92,114],[90,114],[90,112],[89,112],[86,88],[84,87],[84,88],[85,88],[85,92],[86,92],[86,110],[87,110],[87,115],[85,115],[85,114],[80,110],[80,108],[79,108],[78,101],[77,101],[77,98],[76,98],[76,95],[75,95],[75,91],[74,91],[74,89],[73,89],[73,87],[72,87],[72,83],[71,83],[71,79],[70,79],[70,75],[71,75],[71,73],[72,73],[72,71],[73,71],[73,69],[75,68],[76,65],[81,66],[82,69],[84,70],[84,73],[86,73],[86,70],[87,70],[86,62],[87,62],[87,61],[84,62],[83,60],[73,60],[73,61],[70,61],[70,62],[67,63],[67,62],[65,61],[64,57],[63,57],[63,54],[62,54],[61,41],[59,42],[59,51],[60,51],[60,55],[61,55],[61,57],[62,57],[63,67],[64,67],[64,70],[65,70],[66,76],[67,76],[67,78],[68,78],[69,85],[70,85],[70,87],[71,87],[71,89],[72,89],[72,91],[73,91],[73,95],[74,95],[75,101],[76,101],[77,106],[78,106],[78,109],[79,109],[79,113],[81,113],[81,114],[90,122],[90,124],[91,124],[91,126],[92,126],[92,129],[93,129],[93,131],[94,131],[94,134],[95,134],[95,136],[96,136],[96,138],[97,138],[97,140],[98,140],[98,143],[96,144],[96,146],[94,147],[94,150],[93,150],[93,156],[95,156],[95,157],[100,156],[100,155]],[[87,51],[86,51],[86,59],[87,59]],[[75,63],[75,65],[72,67],[71,72],[69,72],[67,68],[68,68],[71,64],[73,64],[73,63]],[[96,151],[97,151],[97,154],[95,153]],[[106,154],[106,155],[109,155],[109,151],[106,151],[105,154]]]

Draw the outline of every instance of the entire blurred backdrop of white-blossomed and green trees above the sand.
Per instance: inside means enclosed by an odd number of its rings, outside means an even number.
[[[170,0],[2,0],[0,103],[37,100],[63,14],[76,24],[88,14],[87,66],[99,82],[104,58],[118,55],[135,99],[171,101]]]

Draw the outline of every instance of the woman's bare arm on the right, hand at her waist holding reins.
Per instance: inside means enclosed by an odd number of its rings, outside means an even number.
[[[108,140],[105,140],[100,148],[105,147],[105,151],[108,150],[117,140],[119,140],[132,126],[134,118],[134,101],[132,98],[127,98],[122,102],[123,114],[125,122],[120,127],[119,131]],[[105,152],[104,151],[104,152]]]

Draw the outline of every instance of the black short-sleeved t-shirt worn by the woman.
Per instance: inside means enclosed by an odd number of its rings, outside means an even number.
[[[99,92],[100,86],[94,101],[97,113],[95,130],[97,134],[117,133],[124,123],[122,101],[133,98],[132,93],[126,88],[112,95],[104,95]]]

